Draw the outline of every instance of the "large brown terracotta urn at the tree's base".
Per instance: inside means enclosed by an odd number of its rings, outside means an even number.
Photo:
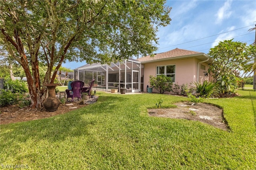
[[[44,84],[48,89],[48,98],[44,101],[43,105],[46,111],[53,112],[60,106],[60,99],[55,95],[55,88],[60,84]]]

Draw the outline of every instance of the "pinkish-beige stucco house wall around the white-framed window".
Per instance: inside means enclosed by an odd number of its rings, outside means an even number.
[[[154,63],[145,63],[144,64],[144,91],[147,91],[147,85],[149,84],[149,76],[156,76],[156,66],[161,65],[175,65],[175,82],[179,85],[188,84],[197,81],[197,65],[200,61],[196,58],[189,59],[178,59],[178,60],[170,60],[170,61],[159,61]],[[201,63],[206,66],[206,70],[208,69],[207,63]],[[199,77],[204,77],[204,71],[200,69],[199,64]],[[199,79],[200,80],[200,79]],[[156,89],[153,89],[153,92],[158,92]]]

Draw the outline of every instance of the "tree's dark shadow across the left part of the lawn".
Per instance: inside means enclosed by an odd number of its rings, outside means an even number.
[[[14,123],[3,128],[1,132],[2,141],[0,147],[8,149],[8,147],[27,140],[38,142],[40,140],[48,140],[49,142],[64,141],[70,137],[84,136],[94,140],[94,134],[90,132],[90,128],[98,123],[104,122],[100,120],[101,112],[108,113],[106,109],[118,108],[118,101],[124,97],[101,96],[94,104],[80,109],[70,111],[63,115],[28,121],[22,123]],[[112,112],[109,112],[112,114]],[[3,126],[3,127],[4,127]]]

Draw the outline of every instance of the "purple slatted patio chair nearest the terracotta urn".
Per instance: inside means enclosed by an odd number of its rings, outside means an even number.
[[[75,97],[77,97],[78,100],[81,99],[82,88],[84,86],[84,82],[82,82],[80,80],[73,81],[70,84],[70,86],[71,86],[71,89],[66,89],[67,101],[69,101],[68,98],[72,98],[72,101],[74,101]]]

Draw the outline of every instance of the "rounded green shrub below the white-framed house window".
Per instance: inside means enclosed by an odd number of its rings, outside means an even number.
[[[172,91],[172,79],[166,75],[157,75],[156,77],[150,75],[149,83],[150,86],[156,89],[159,93]]]

